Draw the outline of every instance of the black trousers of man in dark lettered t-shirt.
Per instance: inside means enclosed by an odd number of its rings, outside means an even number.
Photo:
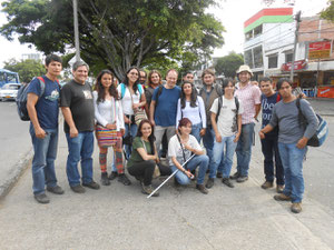
[[[284,184],[284,169],[278,152],[277,137],[265,137],[261,140],[262,152],[264,156],[264,173],[266,181],[274,182],[274,156],[276,166],[276,183]]]

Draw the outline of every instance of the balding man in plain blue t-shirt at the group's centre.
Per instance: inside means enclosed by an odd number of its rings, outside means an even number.
[[[156,126],[155,137],[157,150],[160,149],[163,136],[166,131],[167,141],[176,131],[177,101],[180,96],[180,88],[176,86],[178,73],[170,69],[166,74],[166,84],[163,86],[158,96],[159,88],[156,88],[149,107],[150,122]]]

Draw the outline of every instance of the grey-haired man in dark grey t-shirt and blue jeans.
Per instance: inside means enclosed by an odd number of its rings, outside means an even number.
[[[72,191],[84,193],[82,186],[99,189],[92,180],[92,150],[95,111],[91,87],[86,82],[89,67],[77,61],[72,66],[73,80],[61,90],[61,111],[65,118],[63,130],[68,143],[66,172]],[[78,162],[81,161],[82,186]]]

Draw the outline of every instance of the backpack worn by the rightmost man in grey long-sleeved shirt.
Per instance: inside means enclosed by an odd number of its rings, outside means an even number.
[[[296,100],[296,106],[297,106],[297,109],[298,109],[298,122],[299,122],[299,126],[301,127],[302,126],[306,127],[307,126],[307,120],[306,120],[306,118],[304,117],[304,114],[302,112],[302,109],[301,109],[301,99],[299,98],[297,98],[297,100]],[[310,138],[310,140],[307,141],[307,146],[311,146],[311,147],[321,147],[324,143],[324,141],[326,140],[326,138],[327,138],[328,126],[327,126],[327,122],[321,116],[318,116],[317,113],[315,113],[315,116],[318,119],[317,129],[316,129],[316,132],[313,134],[313,137]]]

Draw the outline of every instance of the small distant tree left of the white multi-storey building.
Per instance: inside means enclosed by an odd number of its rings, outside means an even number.
[[[228,78],[236,76],[237,69],[244,64],[244,57],[240,53],[234,51],[229,52],[228,56],[219,58],[215,66],[217,74],[224,74]]]

